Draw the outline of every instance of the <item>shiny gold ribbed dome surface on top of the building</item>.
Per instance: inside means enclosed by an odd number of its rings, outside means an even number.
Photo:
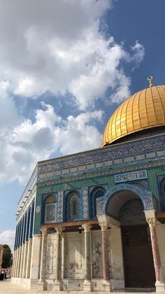
[[[165,85],[148,87],[126,99],[108,120],[102,145],[129,134],[165,125]]]

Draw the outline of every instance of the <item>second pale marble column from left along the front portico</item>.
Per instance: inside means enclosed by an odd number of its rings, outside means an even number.
[[[57,227],[56,230],[56,265],[55,265],[55,290],[62,290],[62,232],[64,227]]]

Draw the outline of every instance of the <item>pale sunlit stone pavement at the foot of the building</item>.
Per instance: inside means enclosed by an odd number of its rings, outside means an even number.
[[[38,290],[27,290],[26,288],[23,288],[22,286],[17,286],[14,283],[11,283],[10,280],[7,281],[0,281],[0,294],[45,294],[45,293],[55,293],[54,291],[38,291]],[[56,292],[57,293],[57,292]],[[70,294],[77,294],[78,292],[76,291],[61,291],[60,294],[66,294],[66,293],[70,293]],[[80,292],[79,292],[80,293]],[[85,292],[81,292],[82,294]],[[92,292],[92,294],[103,294],[101,292]],[[128,293],[128,292],[127,292]],[[58,292],[59,294],[59,292]],[[114,294],[125,294],[122,292],[114,292]],[[129,292],[128,294],[147,294],[142,293],[142,292]],[[149,293],[148,293],[149,294]],[[150,292],[150,294],[155,294],[155,292]]]

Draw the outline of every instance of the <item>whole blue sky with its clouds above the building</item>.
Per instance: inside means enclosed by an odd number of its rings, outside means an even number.
[[[148,76],[164,85],[164,10],[164,0],[0,0],[1,244],[13,246],[38,160],[99,147]]]

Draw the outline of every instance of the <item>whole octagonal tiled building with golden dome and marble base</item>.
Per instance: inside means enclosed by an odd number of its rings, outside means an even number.
[[[17,204],[12,281],[165,293],[165,85],[126,99],[101,148],[37,163]]]

